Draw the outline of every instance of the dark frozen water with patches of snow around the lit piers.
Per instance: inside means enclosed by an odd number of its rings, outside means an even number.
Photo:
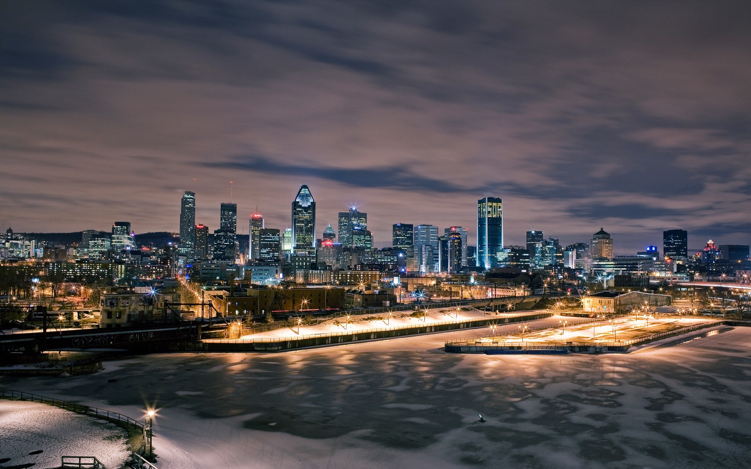
[[[751,467],[751,328],[633,354],[441,350],[475,332],[0,383],[139,418],[155,404],[160,469]]]

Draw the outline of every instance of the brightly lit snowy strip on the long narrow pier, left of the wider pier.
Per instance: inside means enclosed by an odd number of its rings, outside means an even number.
[[[285,329],[276,329],[267,332],[258,332],[257,334],[243,335],[243,339],[252,338],[280,338],[291,337],[299,338],[304,335],[313,334],[341,334],[353,331],[365,331],[368,329],[396,329],[406,326],[424,326],[431,323],[444,322],[463,322],[473,319],[496,319],[503,317],[514,317],[525,314],[536,314],[541,311],[522,311],[509,314],[487,314],[476,308],[441,308],[427,310],[427,316],[412,316],[415,311],[396,311],[391,317],[387,314],[363,314],[360,316],[337,317],[333,320],[327,320],[324,323],[312,326],[297,326]]]

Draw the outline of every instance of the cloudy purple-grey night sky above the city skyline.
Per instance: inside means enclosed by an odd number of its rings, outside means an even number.
[[[213,230],[238,203],[320,232],[357,204],[505,243],[605,227],[751,242],[747,2],[2,2],[0,218],[17,231]]]

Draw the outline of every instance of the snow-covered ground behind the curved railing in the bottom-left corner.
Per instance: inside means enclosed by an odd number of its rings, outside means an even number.
[[[47,404],[0,398],[0,467],[59,467],[61,456],[95,456],[110,469],[130,455],[117,425]],[[41,450],[38,454],[29,454]]]

